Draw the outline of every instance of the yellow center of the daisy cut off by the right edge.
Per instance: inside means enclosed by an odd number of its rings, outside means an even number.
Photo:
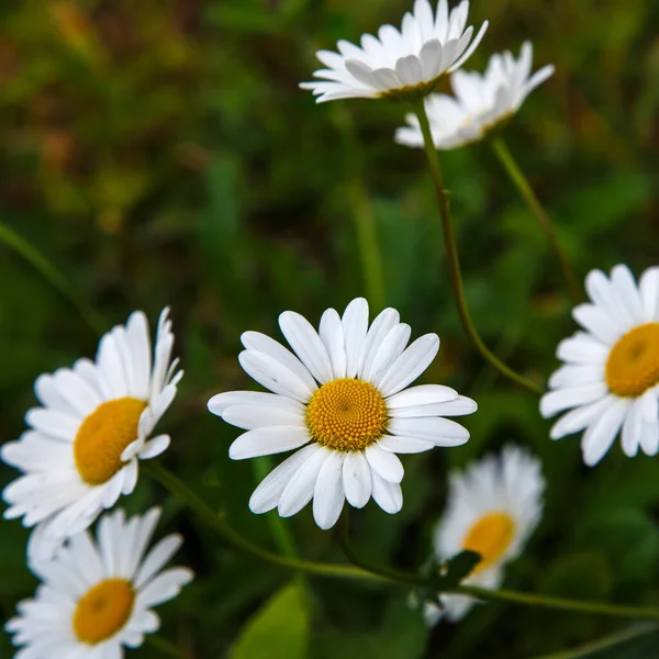
[[[606,360],[608,389],[638,398],[659,382],[659,323],[634,327],[611,348]]]

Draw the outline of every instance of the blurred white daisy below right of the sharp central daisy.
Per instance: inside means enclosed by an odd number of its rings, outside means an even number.
[[[499,588],[503,567],[520,556],[540,521],[544,490],[539,460],[516,446],[453,473],[446,512],[435,530],[437,559],[444,562],[460,551],[477,551],[482,559],[462,583]],[[460,619],[474,600],[443,595],[442,602],[444,612],[426,605],[428,624],[443,613],[451,622]]]

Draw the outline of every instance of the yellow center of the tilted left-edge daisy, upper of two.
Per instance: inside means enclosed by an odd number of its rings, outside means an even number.
[[[124,465],[121,454],[137,439],[144,401],[121,398],[100,404],[80,425],[74,457],[80,477],[90,485],[110,480]]]

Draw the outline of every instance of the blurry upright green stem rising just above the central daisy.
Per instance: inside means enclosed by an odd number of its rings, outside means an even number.
[[[376,309],[384,306],[384,280],[382,258],[376,231],[373,206],[364,186],[364,167],[357,148],[357,136],[353,118],[343,108],[334,111],[334,122],[343,137],[346,157],[346,189],[351,206],[353,221],[357,233],[357,244],[364,271],[364,281],[369,302]]]

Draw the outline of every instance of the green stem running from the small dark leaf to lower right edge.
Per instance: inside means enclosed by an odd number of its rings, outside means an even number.
[[[556,608],[560,611],[573,611],[576,613],[592,613],[614,617],[659,621],[658,608],[639,608],[635,606],[618,606],[603,602],[583,602],[580,600],[566,600],[550,595],[534,595],[509,590],[489,590],[477,585],[458,585],[447,594],[469,595],[483,602],[507,602],[511,604],[524,604],[540,608]]]

